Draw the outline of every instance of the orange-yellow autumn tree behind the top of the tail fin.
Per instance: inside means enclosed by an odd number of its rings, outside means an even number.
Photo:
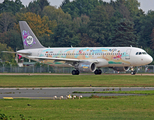
[[[35,13],[18,13],[16,14],[17,21],[27,21],[30,28],[36,34],[36,36],[42,36],[44,34],[50,35],[53,32],[51,31],[51,27],[55,27],[56,23],[54,21],[50,21],[47,16],[41,18],[39,15]],[[19,24],[16,23],[15,28],[19,30]]]

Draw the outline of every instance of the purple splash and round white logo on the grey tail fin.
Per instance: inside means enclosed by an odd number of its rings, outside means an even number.
[[[31,47],[33,44],[36,44],[35,39],[29,34],[29,31],[23,30],[22,35],[24,38],[24,45],[25,46]]]

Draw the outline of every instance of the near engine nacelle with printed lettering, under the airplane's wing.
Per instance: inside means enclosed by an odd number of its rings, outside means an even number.
[[[96,70],[96,65],[95,63],[86,61],[79,63],[77,66],[75,66],[75,69],[78,69],[82,72],[94,72]]]

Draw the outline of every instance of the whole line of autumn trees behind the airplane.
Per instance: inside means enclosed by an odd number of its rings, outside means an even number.
[[[145,14],[138,0],[64,0],[59,8],[51,5],[48,0],[28,6],[21,0],[0,3],[0,51],[23,48],[19,21],[27,21],[46,47],[132,45],[154,56],[154,11]]]

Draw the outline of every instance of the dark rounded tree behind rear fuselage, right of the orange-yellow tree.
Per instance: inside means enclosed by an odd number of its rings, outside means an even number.
[[[74,31],[72,21],[61,20],[51,36],[51,42],[54,47],[73,47],[79,46],[79,34]]]

